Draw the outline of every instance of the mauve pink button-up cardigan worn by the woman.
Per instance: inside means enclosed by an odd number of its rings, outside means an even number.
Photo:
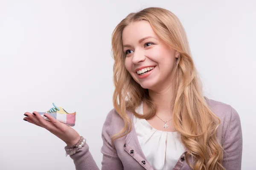
[[[241,170],[242,131],[239,114],[230,105],[205,99],[213,113],[221,119],[217,137],[224,147],[223,166],[226,170]],[[131,112],[127,111],[127,114],[130,119],[133,118]],[[102,128],[102,170],[153,170],[143,154],[134,126],[128,135],[114,141],[115,150],[112,149],[110,136],[118,133],[123,127],[122,118],[112,109]],[[87,144],[80,152],[70,157],[76,170],[99,170]],[[188,161],[192,164],[190,157]],[[180,156],[173,170],[191,170],[186,163],[185,153]]]

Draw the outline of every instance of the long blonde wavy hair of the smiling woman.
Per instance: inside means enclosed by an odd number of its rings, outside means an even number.
[[[175,14],[163,8],[151,7],[131,13],[113,31],[113,105],[123,119],[124,127],[112,136],[112,143],[131,131],[132,122],[126,113],[127,110],[141,119],[150,119],[155,115],[156,106],[148,94],[148,89],[142,88],[125,68],[122,31],[131,22],[141,20],[148,21],[158,37],[180,54],[174,70],[172,113],[175,130],[181,134],[181,142],[188,149],[186,158],[192,156],[192,160],[195,160],[192,165],[186,159],[187,163],[193,170],[224,170],[223,148],[216,135],[220,119],[212,113],[205,102],[201,82],[180,20]],[[143,115],[135,112],[141,101],[149,108],[148,113]]]

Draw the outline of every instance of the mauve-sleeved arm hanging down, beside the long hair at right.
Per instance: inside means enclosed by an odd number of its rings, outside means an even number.
[[[224,137],[223,161],[226,170],[241,170],[242,159],[242,130],[239,114],[231,108],[230,122]]]

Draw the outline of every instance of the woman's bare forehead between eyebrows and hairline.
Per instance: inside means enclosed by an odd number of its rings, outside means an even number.
[[[124,28],[122,42],[123,44],[137,43],[140,39],[148,36],[157,38],[150,23],[145,20],[135,21]]]

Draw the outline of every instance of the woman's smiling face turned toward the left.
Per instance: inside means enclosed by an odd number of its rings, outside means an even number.
[[[155,34],[148,21],[132,22],[122,33],[125,68],[143,88],[159,90],[172,84],[177,52]]]

